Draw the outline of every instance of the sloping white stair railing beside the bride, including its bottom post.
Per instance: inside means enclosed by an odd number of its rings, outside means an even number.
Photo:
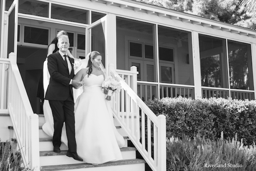
[[[158,117],[120,77],[113,65],[109,75],[121,83],[112,98],[113,115],[153,171],[166,171],[166,119]]]

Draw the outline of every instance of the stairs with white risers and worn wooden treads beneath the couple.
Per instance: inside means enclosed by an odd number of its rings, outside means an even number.
[[[118,132],[124,135],[125,147],[121,148],[123,160],[112,161],[94,166],[74,160],[66,156],[68,147],[62,143],[61,153],[53,152],[52,137],[49,137],[43,130],[42,125],[45,123],[43,114],[39,114],[39,153],[40,153],[40,170],[41,171],[145,171],[145,160],[136,159],[136,148],[128,147],[127,140],[129,137],[122,132],[121,126],[116,126]],[[115,125],[117,123],[115,122]],[[104,140],[103,140],[104,141]]]

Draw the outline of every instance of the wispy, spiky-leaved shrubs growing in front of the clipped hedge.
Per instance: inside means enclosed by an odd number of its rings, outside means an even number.
[[[166,171],[254,171],[256,146],[232,140],[183,136],[167,140]]]

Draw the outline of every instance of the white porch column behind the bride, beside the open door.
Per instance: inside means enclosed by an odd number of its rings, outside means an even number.
[[[113,64],[113,69],[116,69],[116,15],[114,14],[107,16],[106,35],[106,66]]]

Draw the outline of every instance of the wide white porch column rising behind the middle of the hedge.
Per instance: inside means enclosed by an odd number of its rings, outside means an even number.
[[[195,31],[192,31],[192,49],[193,49],[195,99],[202,99],[199,35]]]

